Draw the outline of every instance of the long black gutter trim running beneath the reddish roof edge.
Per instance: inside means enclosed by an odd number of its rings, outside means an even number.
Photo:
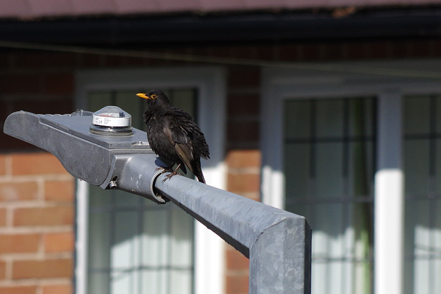
[[[441,10],[329,13],[257,13],[216,16],[58,19],[0,23],[0,39],[64,45],[127,46],[438,38]]]

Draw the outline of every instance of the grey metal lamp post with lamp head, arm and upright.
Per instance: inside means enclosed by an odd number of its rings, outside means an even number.
[[[130,116],[116,111],[121,120]],[[103,117],[83,110],[14,112],[3,131],[54,154],[72,176],[92,185],[174,202],[249,258],[249,293],[311,293],[311,229],[304,217],[183,176],[163,182],[166,174],[156,170],[163,162],[145,132],[106,126]]]

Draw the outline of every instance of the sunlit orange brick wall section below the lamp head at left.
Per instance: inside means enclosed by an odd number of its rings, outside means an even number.
[[[74,178],[54,156],[0,155],[0,294],[70,294]]]

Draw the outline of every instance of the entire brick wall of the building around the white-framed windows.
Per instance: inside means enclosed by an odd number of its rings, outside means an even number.
[[[164,52],[260,61],[340,61],[441,56],[441,41],[207,46]],[[0,52],[0,121],[25,110],[74,111],[74,72],[87,68],[200,63],[63,52]],[[227,89],[227,189],[259,200],[260,69],[232,65]],[[267,97],[271,98],[271,97]],[[268,118],[270,119],[270,118]],[[74,179],[58,160],[0,132],[0,294],[72,293]],[[247,293],[248,260],[226,248],[228,294]]]

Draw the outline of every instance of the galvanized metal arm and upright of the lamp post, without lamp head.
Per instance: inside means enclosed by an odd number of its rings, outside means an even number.
[[[249,258],[249,293],[311,293],[306,219],[194,180],[158,176],[165,197]]]

